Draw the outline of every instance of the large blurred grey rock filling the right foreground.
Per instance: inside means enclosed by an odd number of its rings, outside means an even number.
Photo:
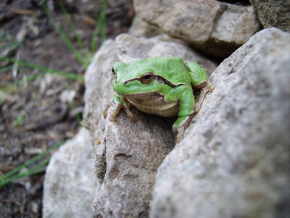
[[[156,175],[151,218],[290,216],[290,34],[255,34]]]

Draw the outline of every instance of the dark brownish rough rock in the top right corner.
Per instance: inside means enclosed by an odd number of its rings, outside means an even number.
[[[277,27],[290,31],[290,1],[289,0],[250,0],[258,12],[264,28]]]

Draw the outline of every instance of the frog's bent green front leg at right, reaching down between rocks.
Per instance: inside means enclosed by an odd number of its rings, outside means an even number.
[[[176,92],[179,94],[176,95]],[[173,93],[173,92],[171,92]],[[166,95],[165,100],[171,99],[171,93]],[[172,130],[175,135],[175,143],[181,141],[186,127],[190,124],[194,116],[195,99],[191,87],[179,86],[174,90],[174,96],[179,97],[178,119],[174,122]]]

